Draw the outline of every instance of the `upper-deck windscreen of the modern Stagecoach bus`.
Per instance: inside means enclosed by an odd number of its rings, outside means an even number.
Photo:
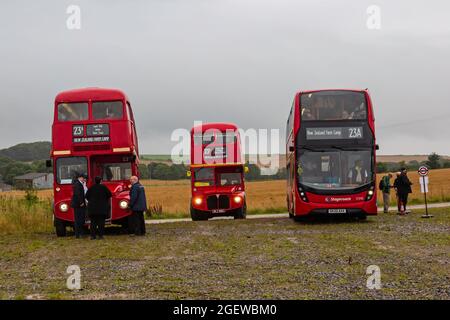
[[[317,91],[302,94],[302,121],[367,120],[367,104],[363,92]]]

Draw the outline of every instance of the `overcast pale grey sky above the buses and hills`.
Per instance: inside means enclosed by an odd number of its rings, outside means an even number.
[[[450,154],[449,13],[445,0],[2,0],[0,148],[50,140],[71,88],[124,90],[155,154],[194,120],[284,134],[296,91],[369,88],[381,154]]]

